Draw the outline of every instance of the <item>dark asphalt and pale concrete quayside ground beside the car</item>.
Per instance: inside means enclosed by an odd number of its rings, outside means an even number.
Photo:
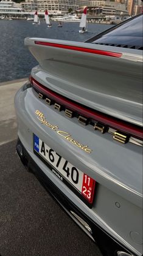
[[[101,256],[16,155],[13,97],[20,86],[0,86],[0,255]]]

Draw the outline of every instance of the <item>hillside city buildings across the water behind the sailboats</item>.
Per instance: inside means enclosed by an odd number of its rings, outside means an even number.
[[[125,15],[128,13],[136,15],[141,12],[141,0],[26,0],[21,4],[16,4],[12,0],[2,0],[0,2],[1,15],[18,15],[19,17],[33,15],[38,10],[40,15],[44,15],[44,10],[48,10],[51,15],[64,15],[69,10],[77,13],[81,17],[82,10],[88,6],[88,17],[108,17],[111,15]],[[120,17],[118,19],[120,20]]]

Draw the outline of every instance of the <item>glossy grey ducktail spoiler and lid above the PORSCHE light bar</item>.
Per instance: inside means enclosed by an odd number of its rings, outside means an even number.
[[[142,126],[140,50],[121,50],[117,47],[115,50],[114,47],[86,43],[88,49],[122,53],[122,58],[113,58],[35,45],[37,40],[25,39],[25,44],[40,63],[40,66],[32,70],[33,78],[83,105]],[[40,42],[85,47],[85,43],[64,40],[40,39]]]

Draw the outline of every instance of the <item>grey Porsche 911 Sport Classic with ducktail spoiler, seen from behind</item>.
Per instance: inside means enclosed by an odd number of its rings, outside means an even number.
[[[16,151],[103,255],[142,255],[142,15],[86,42],[26,38]]]

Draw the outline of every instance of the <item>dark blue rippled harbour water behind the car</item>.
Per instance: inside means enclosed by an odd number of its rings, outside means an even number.
[[[88,24],[88,33],[78,32],[79,23],[52,23],[47,28],[44,21],[40,25],[32,25],[32,21],[0,20],[0,82],[29,77],[30,70],[38,62],[24,47],[25,37],[44,37],[51,39],[72,40],[84,42],[96,34],[110,28],[107,24]]]

